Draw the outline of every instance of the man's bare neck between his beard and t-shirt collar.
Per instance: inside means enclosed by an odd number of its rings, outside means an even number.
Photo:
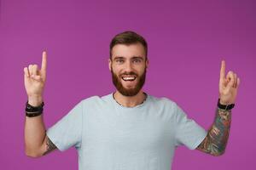
[[[146,95],[141,90],[135,96],[124,96],[120,94],[119,91],[116,91],[113,94],[113,98],[119,103],[119,105],[123,105],[125,107],[134,107],[136,105],[140,105],[146,99]]]

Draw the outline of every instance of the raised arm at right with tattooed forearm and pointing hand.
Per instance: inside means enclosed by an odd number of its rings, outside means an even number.
[[[229,71],[225,77],[225,62],[222,61],[219,78],[219,104],[235,104],[237,89],[240,85],[240,78],[236,73]],[[212,156],[224,154],[230,134],[231,110],[229,108],[216,109],[215,120],[208,130],[207,137],[197,147]]]

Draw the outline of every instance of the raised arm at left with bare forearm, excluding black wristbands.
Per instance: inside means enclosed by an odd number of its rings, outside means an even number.
[[[46,80],[47,56],[43,52],[42,67],[29,65],[24,68],[24,83],[28,98],[28,105],[38,107],[43,103],[44,85]],[[36,111],[35,111],[36,112]],[[28,112],[32,114],[33,112]],[[43,116],[26,116],[25,120],[25,152],[26,156],[38,157],[55,150],[46,135]]]

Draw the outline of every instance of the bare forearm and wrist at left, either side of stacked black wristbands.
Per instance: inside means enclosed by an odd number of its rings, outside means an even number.
[[[40,105],[42,99],[29,99],[30,105]],[[25,149],[26,155],[38,156],[41,153],[45,138],[45,126],[43,115],[28,117],[25,120]]]

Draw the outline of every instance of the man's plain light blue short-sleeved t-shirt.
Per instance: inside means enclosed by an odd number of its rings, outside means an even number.
[[[75,146],[79,170],[170,170],[175,148],[194,150],[207,132],[170,99],[124,107],[108,94],[79,102],[47,135],[61,151]]]

